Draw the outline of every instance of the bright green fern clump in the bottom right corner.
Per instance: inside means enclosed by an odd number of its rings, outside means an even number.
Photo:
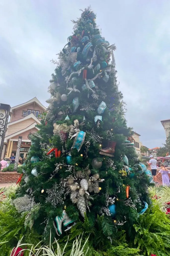
[[[144,255],[170,255],[170,219],[158,206],[150,206],[133,226],[136,230],[134,244]]]

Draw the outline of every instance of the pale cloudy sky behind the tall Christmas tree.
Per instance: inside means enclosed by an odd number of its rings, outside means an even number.
[[[1,0],[0,103],[11,107],[35,96],[42,104],[55,65],[72,34],[72,19],[91,5],[102,36],[115,44],[119,89],[127,124],[143,145],[165,142],[170,119],[170,1]]]

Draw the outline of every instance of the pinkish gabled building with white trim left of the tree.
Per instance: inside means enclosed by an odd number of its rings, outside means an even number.
[[[25,157],[31,145],[30,135],[37,132],[38,128],[35,126],[40,124],[42,113],[45,111],[45,106],[36,97],[10,109],[10,121],[7,124],[2,152],[3,158],[9,158],[12,153],[16,155],[19,136],[22,136],[20,156]]]

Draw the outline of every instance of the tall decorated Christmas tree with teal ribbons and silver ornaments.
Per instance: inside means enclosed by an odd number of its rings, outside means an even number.
[[[95,247],[110,243],[150,204],[146,166],[135,154],[118,89],[115,45],[101,36],[90,8],[74,23],[58,54],[47,113],[32,146],[15,199],[26,225],[67,237],[91,232]],[[70,231],[71,229],[71,231]],[[68,231],[69,230],[69,231]]]

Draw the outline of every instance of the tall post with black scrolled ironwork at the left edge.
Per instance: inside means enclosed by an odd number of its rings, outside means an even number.
[[[10,105],[7,104],[0,104],[0,159],[4,147],[4,138],[5,138],[5,132],[6,127],[8,123],[8,117],[9,117],[9,111],[10,111]]]

